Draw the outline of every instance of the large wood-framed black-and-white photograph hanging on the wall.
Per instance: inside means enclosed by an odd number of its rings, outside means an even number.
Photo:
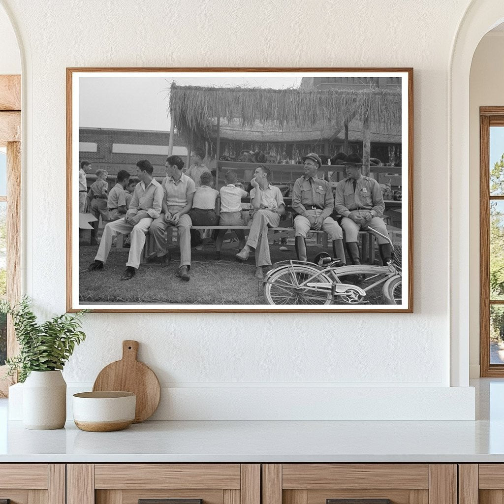
[[[413,311],[412,69],[67,69],[67,309]]]

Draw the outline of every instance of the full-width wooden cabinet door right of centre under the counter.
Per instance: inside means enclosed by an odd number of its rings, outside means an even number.
[[[265,464],[263,504],[457,504],[457,467]]]

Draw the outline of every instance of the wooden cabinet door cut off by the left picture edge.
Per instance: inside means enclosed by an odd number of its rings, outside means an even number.
[[[3,504],[65,504],[65,464],[0,464]]]

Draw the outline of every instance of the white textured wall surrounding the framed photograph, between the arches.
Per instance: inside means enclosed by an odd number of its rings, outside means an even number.
[[[44,314],[65,310],[66,67],[414,67],[414,314],[91,314],[65,377],[92,383],[138,339],[177,394],[429,387],[425,404],[443,414],[432,387],[450,385],[448,66],[465,0],[3,4],[25,50],[25,290]]]

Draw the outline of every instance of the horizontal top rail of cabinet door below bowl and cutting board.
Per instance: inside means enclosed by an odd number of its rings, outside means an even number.
[[[240,488],[239,464],[95,464],[99,488]]]

